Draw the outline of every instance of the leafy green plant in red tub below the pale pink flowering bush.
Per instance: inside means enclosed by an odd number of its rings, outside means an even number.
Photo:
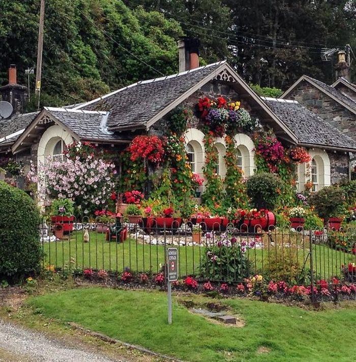
[[[51,221],[54,223],[54,233],[57,238],[63,238],[64,233],[73,231],[74,206],[71,199],[56,199],[51,205]]]

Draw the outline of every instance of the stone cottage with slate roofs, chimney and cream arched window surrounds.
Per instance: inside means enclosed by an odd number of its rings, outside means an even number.
[[[334,109],[333,116],[341,120],[332,124],[322,109],[313,112],[297,97],[301,92],[303,96],[303,89],[287,91],[283,98],[295,98],[290,100],[259,97],[225,61],[199,67],[194,44],[185,45],[180,46],[180,73],[139,81],[80,105],[45,107],[40,112],[17,114],[2,121],[0,155],[22,160],[28,167],[29,160],[44,162],[47,156],[61,157],[64,147],[74,140],[121,150],[135,135],[160,133],[166,115],[177,106],[194,107],[201,97],[223,96],[241,100],[243,108],[262,126],[270,127],[285,146],[307,148],[312,158],[307,165],[311,174],[307,174],[306,165],[299,166],[299,191],[304,190],[309,178],[314,191],[349,178],[349,155],[356,152],[356,141],[339,127],[343,119],[356,114],[356,107],[355,113],[351,111],[349,98],[348,102],[343,100],[347,107],[335,101],[340,107]],[[301,81],[303,86],[310,84],[306,79]],[[193,116],[185,142],[191,168],[201,176],[205,160],[203,137],[199,119]],[[239,167],[249,177],[255,172],[254,142],[248,133],[237,134],[235,141]],[[219,153],[217,172],[224,177],[224,138],[216,138],[215,146]]]

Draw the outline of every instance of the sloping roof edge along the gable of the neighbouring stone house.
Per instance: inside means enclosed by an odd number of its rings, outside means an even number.
[[[352,113],[356,114],[356,102],[352,100],[351,97],[346,94],[340,92],[336,88],[331,85],[325,84],[320,80],[311,78],[307,75],[303,75],[300,77],[294,84],[292,84],[281,96],[282,99],[288,98],[289,94],[295,89],[301,82],[307,81],[311,85],[315,86],[322,93],[327,95],[328,97],[334,99],[336,102],[347,108]]]

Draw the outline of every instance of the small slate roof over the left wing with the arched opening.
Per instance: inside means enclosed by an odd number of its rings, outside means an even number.
[[[128,140],[124,135],[114,134],[107,130],[107,112],[52,107],[45,107],[44,109],[50,112],[53,117],[62,122],[81,139],[96,141]]]

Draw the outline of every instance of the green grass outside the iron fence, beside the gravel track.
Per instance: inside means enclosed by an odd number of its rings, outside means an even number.
[[[246,322],[226,327],[193,315],[173,298],[173,324],[167,324],[162,292],[108,288],[72,289],[32,297],[28,303],[46,318],[76,322],[112,338],[186,361],[351,361],[356,305],[306,311],[248,299],[221,299]],[[189,295],[199,303],[209,299]],[[217,300],[214,300],[215,303]],[[270,349],[258,354],[259,347]]]

